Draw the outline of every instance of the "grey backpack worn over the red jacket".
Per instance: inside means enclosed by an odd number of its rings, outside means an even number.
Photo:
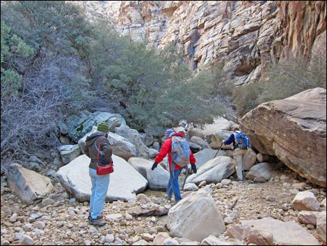
[[[185,167],[190,163],[191,149],[189,142],[184,137],[174,136],[171,138],[172,162]]]

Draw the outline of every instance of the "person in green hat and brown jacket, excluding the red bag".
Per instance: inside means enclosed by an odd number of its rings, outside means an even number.
[[[112,162],[112,149],[108,140],[109,124],[100,122],[97,125],[97,132],[91,134],[86,138],[86,145],[83,148],[84,153],[90,157],[90,165],[88,166],[88,174],[90,174],[92,188],[90,196],[90,215],[88,222],[96,226],[104,226],[106,223],[102,222],[102,211],[104,208],[104,201],[106,199],[106,192],[108,191],[110,174],[97,175],[97,146],[100,145],[99,154],[105,157],[106,162]]]

